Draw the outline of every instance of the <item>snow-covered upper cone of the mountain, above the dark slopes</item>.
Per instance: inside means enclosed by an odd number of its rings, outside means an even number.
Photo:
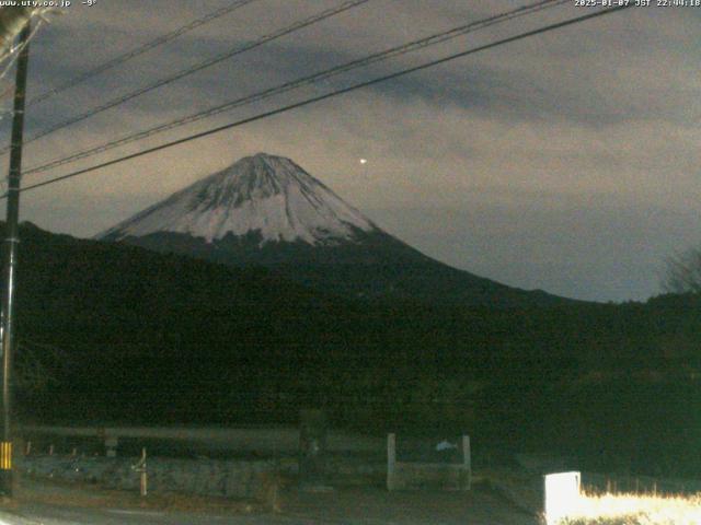
[[[173,194],[99,235],[119,241],[179,233],[207,243],[254,234],[260,245],[334,245],[377,226],[295,164],[258,153]]]

